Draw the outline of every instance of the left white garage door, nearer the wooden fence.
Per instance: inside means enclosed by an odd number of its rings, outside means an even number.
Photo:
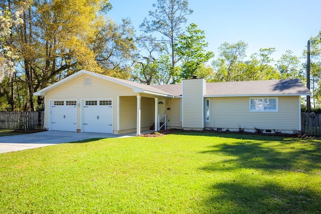
[[[77,101],[50,101],[49,129],[56,131],[76,131],[77,129]]]

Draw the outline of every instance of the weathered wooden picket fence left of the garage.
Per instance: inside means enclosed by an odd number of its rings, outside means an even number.
[[[44,111],[0,112],[0,129],[44,129]]]

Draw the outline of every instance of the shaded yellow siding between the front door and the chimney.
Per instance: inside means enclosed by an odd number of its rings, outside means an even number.
[[[181,121],[181,101],[182,98],[172,98],[167,100],[167,108],[171,110],[166,110],[167,114],[167,127],[168,128],[182,128]]]

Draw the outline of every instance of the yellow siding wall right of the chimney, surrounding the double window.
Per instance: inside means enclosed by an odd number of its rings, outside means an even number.
[[[211,98],[207,128],[276,129],[291,132],[299,129],[299,97],[278,97],[278,112],[250,112],[249,97]]]

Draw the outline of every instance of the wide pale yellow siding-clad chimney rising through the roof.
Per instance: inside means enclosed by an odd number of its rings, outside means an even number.
[[[204,128],[203,79],[183,80],[183,128]]]

